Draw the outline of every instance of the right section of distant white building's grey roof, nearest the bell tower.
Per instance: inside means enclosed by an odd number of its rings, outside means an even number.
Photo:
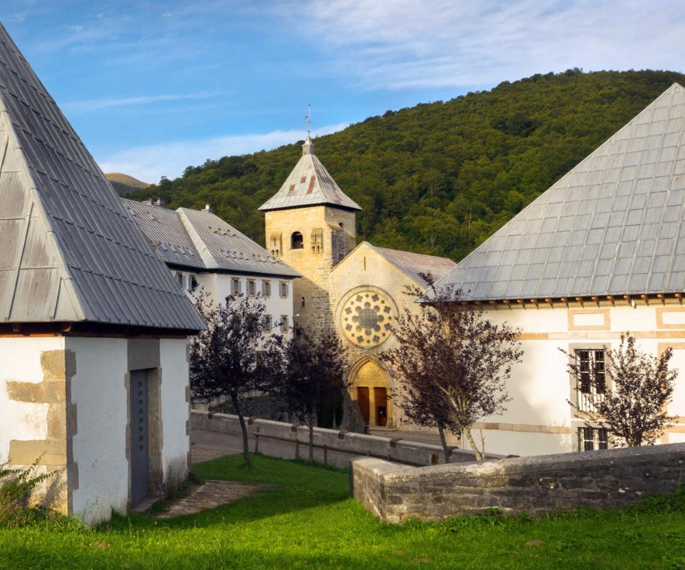
[[[206,270],[299,277],[290,265],[208,210],[177,209]]]

